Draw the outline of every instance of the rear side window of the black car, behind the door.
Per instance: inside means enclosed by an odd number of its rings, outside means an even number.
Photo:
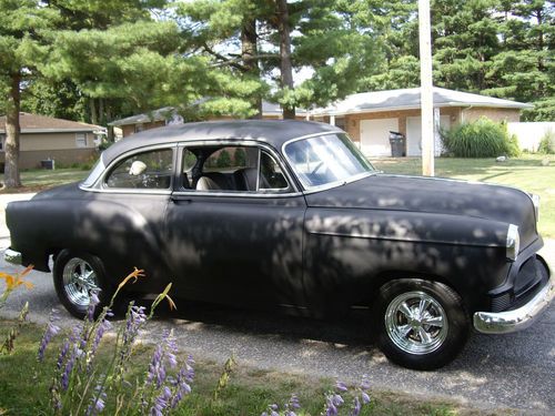
[[[167,190],[173,174],[173,151],[154,150],[119,162],[108,174],[108,187]]]

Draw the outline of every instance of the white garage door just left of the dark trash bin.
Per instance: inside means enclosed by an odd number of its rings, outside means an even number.
[[[398,119],[361,120],[361,149],[366,156],[391,156],[390,131],[398,131]]]

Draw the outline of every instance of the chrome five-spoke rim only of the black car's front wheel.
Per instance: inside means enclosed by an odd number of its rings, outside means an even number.
[[[442,305],[425,292],[396,296],[385,311],[385,331],[402,351],[423,355],[440,348],[448,333]]]

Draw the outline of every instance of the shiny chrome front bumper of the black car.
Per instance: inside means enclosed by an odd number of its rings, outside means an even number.
[[[555,296],[555,277],[552,275],[547,284],[526,305],[506,312],[476,312],[474,327],[483,334],[506,334],[531,326]]]

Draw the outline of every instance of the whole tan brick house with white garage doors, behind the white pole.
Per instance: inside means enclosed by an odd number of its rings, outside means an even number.
[[[347,95],[325,109],[311,112],[311,120],[324,121],[345,130],[367,156],[391,155],[390,132],[402,133],[405,155],[418,156],[421,149],[420,88],[363,92]],[[442,129],[487,116],[494,121],[517,122],[531,104],[434,88],[434,108]],[[436,142],[436,154],[441,143]]]

